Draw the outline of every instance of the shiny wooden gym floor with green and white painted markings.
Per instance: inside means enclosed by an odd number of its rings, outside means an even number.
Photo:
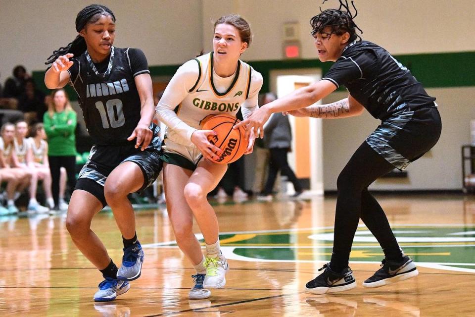
[[[305,283],[330,259],[334,198],[216,203],[221,244],[231,271],[226,289],[189,300],[192,266],[174,243],[165,207],[138,210],[145,251],[142,276],[128,293],[94,303],[100,273],[81,255],[65,214],[0,218],[2,316],[475,316],[475,198],[378,196],[416,278],[377,289],[361,286],[383,258],[364,226],[350,266],[358,286],[313,295]],[[122,241],[112,213],[93,221],[114,262]],[[195,232],[199,232],[195,226]]]

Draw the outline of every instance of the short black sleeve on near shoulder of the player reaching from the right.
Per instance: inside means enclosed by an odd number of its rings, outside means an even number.
[[[371,76],[378,64],[376,55],[371,51],[359,51],[341,56],[332,65],[322,80],[330,80],[336,87]]]

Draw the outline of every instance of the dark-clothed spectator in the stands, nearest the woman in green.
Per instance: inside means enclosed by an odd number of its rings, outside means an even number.
[[[30,125],[43,121],[45,94],[36,88],[32,79],[25,82],[25,91],[18,99],[18,110],[23,112],[25,121]]]

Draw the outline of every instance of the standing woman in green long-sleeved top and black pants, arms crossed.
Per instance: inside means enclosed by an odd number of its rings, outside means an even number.
[[[43,116],[48,137],[48,160],[51,170],[51,189],[56,210],[64,209],[64,197],[59,197],[60,169],[64,167],[71,190],[76,186],[76,112],[71,107],[69,97],[63,89],[54,90]]]

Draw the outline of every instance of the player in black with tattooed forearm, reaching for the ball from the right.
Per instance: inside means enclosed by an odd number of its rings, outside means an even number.
[[[310,21],[320,61],[334,62],[324,78],[262,106],[237,124],[254,131],[260,128],[262,134],[262,126],[273,112],[344,118],[359,115],[365,108],[381,120],[338,176],[332,259],[321,268],[321,275],[306,284],[307,290],[316,294],[356,286],[348,260],[360,218],[377,238],[385,256],[382,267],[363,286],[380,287],[418,274],[414,262],[399,247],[368,186],[393,168],[403,170],[423,156],[436,144],[441,132],[435,98],[428,96],[422,84],[386,50],[358,39],[348,2],[340,0],[340,4],[337,10],[320,12]],[[347,98],[310,106],[341,85],[349,92]]]

